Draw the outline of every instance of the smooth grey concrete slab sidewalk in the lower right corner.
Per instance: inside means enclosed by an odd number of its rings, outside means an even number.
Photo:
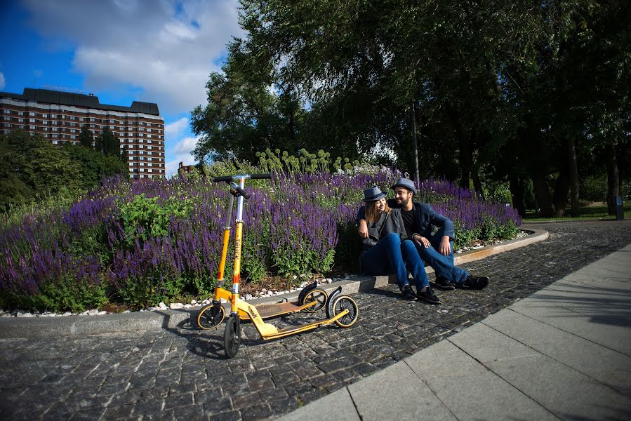
[[[629,420],[631,245],[280,419]]]

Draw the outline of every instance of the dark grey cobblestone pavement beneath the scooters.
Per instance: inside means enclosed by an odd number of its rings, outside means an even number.
[[[277,417],[381,370],[631,243],[628,222],[538,226],[550,239],[463,265],[481,291],[438,292],[441,306],[395,286],[354,295],[359,321],[263,342],[244,326],[236,358],[222,326],[0,340],[4,420],[253,420]],[[302,323],[302,314],[274,321]],[[431,364],[431,361],[427,361]],[[317,415],[314,415],[317,416]]]

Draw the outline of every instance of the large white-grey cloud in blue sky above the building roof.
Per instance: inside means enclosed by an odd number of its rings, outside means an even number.
[[[41,34],[76,46],[73,66],[85,88],[139,88],[138,100],[167,114],[206,103],[208,74],[243,34],[237,0],[23,2]]]

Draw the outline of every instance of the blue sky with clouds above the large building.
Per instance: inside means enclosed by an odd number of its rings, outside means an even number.
[[[0,0],[0,91],[93,93],[100,103],[156,102],[167,176],[195,162],[190,112],[206,105],[237,22],[237,0]]]

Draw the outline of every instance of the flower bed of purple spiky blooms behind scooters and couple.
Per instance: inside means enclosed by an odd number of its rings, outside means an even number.
[[[242,279],[326,274],[332,267],[354,272],[363,190],[385,191],[400,176],[382,168],[252,180]],[[206,298],[228,218],[225,187],[201,177],[114,178],[69,208],[26,215],[0,234],[0,307],[81,312],[108,301],[142,308]],[[455,222],[456,246],[509,238],[521,223],[511,208],[478,201],[452,183],[429,180],[418,188],[420,199]],[[230,259],[225,273],[232,273]]]

